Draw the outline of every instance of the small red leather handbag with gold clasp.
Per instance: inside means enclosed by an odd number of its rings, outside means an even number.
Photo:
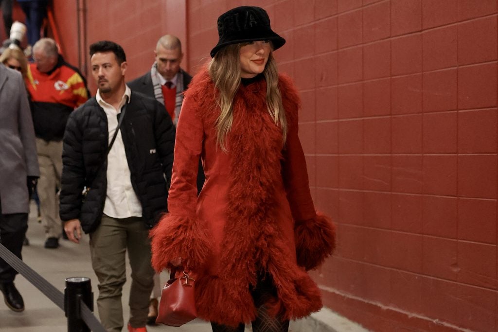
[[[188,273],[177,277],[176,269],[171,270],[170,279],[162,289],[156,323],[169,326],[182,326],[197,317],[194,297],[194,282]]]

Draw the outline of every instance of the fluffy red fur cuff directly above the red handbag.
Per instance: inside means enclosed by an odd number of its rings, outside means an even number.
[[[210,253],[207,230],[196,217],[164,215],[149,234],[152,267],[160,272],[172,268],[171,261],[182,257],[189,269],[202,269]]]

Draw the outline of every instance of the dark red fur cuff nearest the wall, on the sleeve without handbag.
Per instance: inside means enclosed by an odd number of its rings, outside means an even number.
[[[312,270],[334,251],[336,227],[330,218],[317,214],[313,219],[296,222],[294,236],[297,264]]]

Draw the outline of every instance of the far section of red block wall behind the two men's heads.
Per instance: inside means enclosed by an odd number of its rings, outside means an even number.
[[[77,2],[53,0],[54,16],[58,25],[62,49],[68,62],[78,66]],[[182,0],[79,0],[81,14],[81,58],[87,62],[81,71],[87,74],[92,95],[96,85],[91,78],[89,45],[99,40],[112,40],[123,46],[128,62],[126,78],[136,78],[154,61],[157,39],[166,33],[177,35],[188,52],[186,43],[186,2]],[[83,18],[86,14],[86,19]],[[84,35],[86,33],[86,36]],[[83,45],[83,43],[82,43]],[[184,61],[188,66],[188,58]]]

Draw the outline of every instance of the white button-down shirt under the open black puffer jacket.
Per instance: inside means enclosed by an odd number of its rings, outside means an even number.
[[[118,113],[121,113],[121,109],[126,102],[126,97],[129,103],[130,96],[131,90],[126,86],[123,99],[116,110],[111,104],[106,103],[102,99],[100,91],[97,91],[97,95],[95,96],[97,102],[107,115],[109,143],[111,143],[114,132],[118,127]],[[121,130],[118,132],[111,151],[107,155],[107,194],[104,204],[104,214],[118,219],[142,216],[142,206],[131,186],[131,174],[126,160]]]

